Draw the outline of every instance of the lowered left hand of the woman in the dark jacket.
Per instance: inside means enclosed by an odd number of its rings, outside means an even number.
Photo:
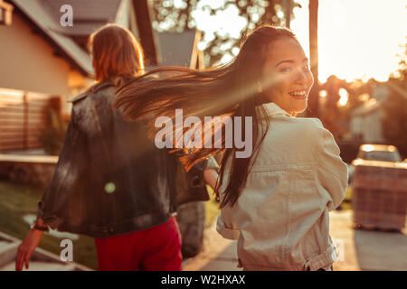
[[[25,236],[20,247],[18,247],[17,256],[15,258],[15,271],[22,271],[25,263],[25,268],[28,269],[30,257],[38,244],[40,244],[43,231],[32,228],[27,236]]]

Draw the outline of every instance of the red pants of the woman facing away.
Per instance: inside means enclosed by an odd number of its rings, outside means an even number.
[[[181,271],[181,235],[175,217],[134,233],[95,238],[101,271]]]

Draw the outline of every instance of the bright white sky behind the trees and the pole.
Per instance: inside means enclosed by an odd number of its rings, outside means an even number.
[[[182,2],[179,0],[180,3]],[[201,0],[200,5],[216,8],[222,0]],[[308,51],[308,0],[297,0],[302,8],[295,8],[296,19],[291,29],[297,34],[304,51]],[[407,0],[319,0],[318,54],[319,80],[332,74],[340,79],[388,79],[397,70],[402,53],[400,45],[407,42]],[[230,6],[222,14],[195,11],[193,17],[198,30],[206,33],[199,47],[211,41],[214,31],[239,37],[246,20]],[[236,54],[238,51],[233,51]],[[230,61],[226,55],[222,61]]]

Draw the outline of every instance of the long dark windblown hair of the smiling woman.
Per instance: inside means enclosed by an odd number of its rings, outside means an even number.
[[[232,148],[225,147],[226,134],[222,134],[222,148],[203,147],[180,156],[189,169],[209,155],[222,152],[218,188],[223,182],[225,164],[232,157],[229,182],[223,191],[221,208],[227,204],[234,205],[246,184],[260,144],[270,126],[270,119],[260,106],[265,101],[259,84],[264,86],[265,82],[269,82],[266,85],[270,85],[269,79],[262,79],[261,71],[268,59],[270,42],[283,37],[297,40],[294,33],[286,28],[262,25],[246,38],[239,54],[228,64],[202,71],[181,67],[151,70],[118,89],[115,107],[122,109],[124,117],[129,120],[152,117],[150,127],[153,131],[156,117],[167,116],[174,119],[177,108],[183,109],[184,117],[241,117],[243,129],[246,117],[252,117],[254,144],[249,158],[237,158],[234,153],[241,149],[234,144]],[[213,132],[212,129],[211,131]],[[244,131],[242,135],[245,135]],[[180,150],[175,149],[173,152],[179,153]],[[219,191],[216,193],[219,197]]]

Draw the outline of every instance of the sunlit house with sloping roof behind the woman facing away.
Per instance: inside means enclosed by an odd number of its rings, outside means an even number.
[[[12,0],[13,23],[0,26],[0,88],[20,89],[71,98],[92,82],[93,69],[86,42],[105,23],[119,23],[135,34],[152,29],[136,21],[128,0]],[[74,24],[62,27],[60,9],[72,6]],[[144,17],[145,18],[145,17]],[[142,24],[140,24],[142,23]],[[148,45],[147,45],[148,46]],[[152,60],[155,63],[155,59]]]

